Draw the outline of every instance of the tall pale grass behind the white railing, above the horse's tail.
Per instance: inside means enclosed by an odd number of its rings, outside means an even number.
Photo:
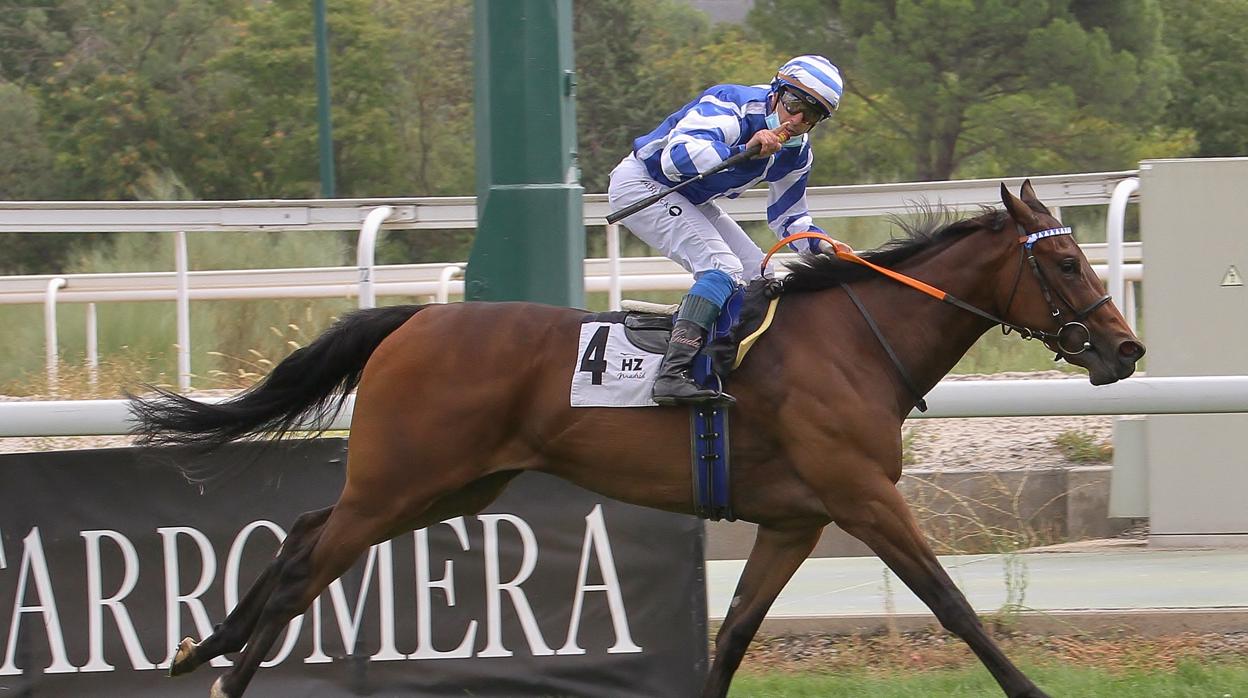
[[[171,235],[112,235],[106,243],[72,260],[65,271],[171,271],[172,242]],[[187,246],[192,270],[334,266],[344,263],[348,256],[337,232],[192,233],[187,236]],[[354,305],[353,298],[196,301],[191,303],[191,368],[198,376],[195,385],[225,387],[212,385],[211,372],[235,368],[237,362],[228,357],[246,356],[248,350],[273,357],[288,353],[285,338],[275,336],[271,327],[297,323],[316,336],[333,316]],[[60,357],[65,367],[82,361],[85,317],[84,303],[61,303],[57,308]],[[101,363],[131,365],[135,376],[145,380],[172,375],[176,383],[173,302],[99,303],[97,321]],[[0,393],[46,393],[42,308],[0,306],[0,326],[6,328],[5,341],[0,342]]]

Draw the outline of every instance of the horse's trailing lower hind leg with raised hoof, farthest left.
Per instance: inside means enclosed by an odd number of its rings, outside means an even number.
[[[307,547],[321,534],[321,527],[329,518],[333,507],[326,507],[314,512],[306,512],[295,519],[291,532],[282,541],[282,547],[277,551],[260,577],[252,582],[251,588],[238,601],[226,619],[212,629],[212,634],[196,643],[191,638],[185,638],[177,646],[173,662],[168,667],[168,676],[182,676],[200,668],[203,663],[215,657],[238,652],[247,644],[247,638],[256,629],[260,614],[265,609],[265,603],[277,584],[277,574],[296,551]]]

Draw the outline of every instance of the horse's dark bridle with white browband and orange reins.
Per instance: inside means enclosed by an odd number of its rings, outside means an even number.
[[[945,301],[946,303],[950,303],[967,312],[977,315],[992,322],[993,325],[1000,325],[1001,331],[1005,335],[1008,335],[1011,331],[1015,331],[1018,332],[1018,336],[1022,337],[1023,340],[1040,340],[1041,342],[1045,343],[1045,346],[1057,352],[1057,358],[1066,356],[1077,356],[1083,353],[1085,351],[1092,348],[1092,343],[1088,341],[1092,337],[1092,335],[1088,331],[1087,325],[1083,323],[1083,321],[1087,320],[1090,315],[1096,312],[1097,308],[1109,302],[1109,295],[1106,293],[1104,296],[1101,296],[1101,298],[1093,301],[1083,310],[1076,310],[1075,303],[1072,303],[1065,295],[1058,292],[1057,288],[1048,282],[1048,277],[1045,276],[1045,271],[1040,268],[1040,262],[1036,261],[1036,252],[1033,250],[1036,242],[1046,237],[1055,237],[1058,235],[1072,235],[1073,231],[1070,227],[1051,227],[1028,233],[1022,227],[1022,225],[1018,224],[1016,225],[1018,226],[1018,248],[1020,248],[1018,273],[1015,275],[1013,288],[1010,291],[1010,300],[1006,302],[1006,308],[1005,311],[1002,311],[1002,315],[1008,313],[1010,306],[1013,305],[1013,298],[1018,292],[1018,285],[1022,281],[1022,267],[1026,265],[1031,267],[1031,271],[1036,276],[1036,281],[1040,283],[1040,290],[1041,293],[1045,296],[1045,302],[1048,303],[1050,316],[1058,323],[1056,332],[1048,332],[1046,330],[1036,330],[1032,327],[1010,322],[1008,320],[992,315],[991,312],[980,310],[972,306],[971,303],[967,303],[966,301],[953,296],[952,293],[947,293],[945,291],[941,291],[940,288],[936,288],[935,286],[924,283],[917,278],[906,276],[901,272],[881,267],[880,265],[864,260],[862,257],[855,255],[854,252],[846,252],[844,250],[837,248],[836,257],[845,260],[847,262],[854,262],[869,267],[871,270],[875,270],[882,273],[884,276],[887,276],[889,278],[897,281],[899,283],[904,283],[936,300]],[[836,241],[821,232],[810,232],[810,231],[797,232],[776,242],[768,252],[768,256],[764,257],[761,268],[763,270],[768,268],[768,262],[771,260],[771,256],[780,250],[780,247],[784,247],[785,245],[804,238],[825,240],[827,241],[827,243],[832,245],[834,248],[836,247]],[[1055,296],[1067,307],[1070,312],[1073,313],[1071,316],[1071,320],[1063,322],[1065,313],[1062,308],[1057,305],[1057,302],[1053,301]]]

